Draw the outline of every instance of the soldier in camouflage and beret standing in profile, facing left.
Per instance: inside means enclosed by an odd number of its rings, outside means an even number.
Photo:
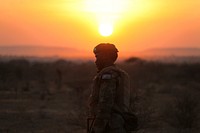
[[[89,133],[127,133],[122,113],[129,111],[128,74],[114,64],[118,50],[113,44],[101,43],[94,48],[98,73],[89,98]]]

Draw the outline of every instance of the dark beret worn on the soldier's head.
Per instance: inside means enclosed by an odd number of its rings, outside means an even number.
[[[100,52],[111,52],[111,53],[117,53],[119,52],[114,44],[111,43],[100,43],[98,44],[94,50],[94,54],[100,53]]]

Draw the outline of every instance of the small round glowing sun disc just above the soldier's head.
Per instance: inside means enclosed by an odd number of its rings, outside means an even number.
[[[102,36],[110,36],[113,33],[113,25],[109,23],[101,23],[99,25],[99,33]]]

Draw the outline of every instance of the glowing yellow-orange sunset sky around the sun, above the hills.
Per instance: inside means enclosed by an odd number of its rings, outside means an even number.
[[[120,9],[104,14],[95,10],[104,6],[88,5],[92,1],[98,0],[0,0],[0,46],[75,49],[70,57],[91,56],[100,42],[116,44],[123,56],[150,48],[200,48],[199,0],[123,0]],[[98,32],[102,15],[117,16],[109,37]],[[0,54],[6,52],[17,53]]]

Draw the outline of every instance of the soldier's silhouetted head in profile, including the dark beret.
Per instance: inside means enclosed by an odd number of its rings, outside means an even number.
[[[111,66],[117,60],[118,50],[114,44],[100,43],[93,50],[96,61],[95,64],[98,70],[101,70],[107,66]]]

